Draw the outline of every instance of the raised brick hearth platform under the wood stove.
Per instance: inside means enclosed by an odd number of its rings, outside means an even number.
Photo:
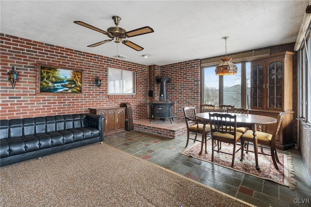
[[[163,136],[171,139],[183,136],[187,134],[187,126],[185,120],[175,120],[172,124],[169,119],[162,121],[159,119],[139,119],[134,120],[134,129],[137,131],[143,131],[147,133],[152,133],[158,136]]]

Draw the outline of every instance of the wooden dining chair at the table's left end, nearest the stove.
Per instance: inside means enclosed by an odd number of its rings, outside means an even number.
[[[186,143],[186,147],[187,147],[189,140],[194,140],[194,142],[195,142],[197,135],[203,133],[203,128],[204,128],[203,126],[204,125],[196,117],[195,106],[183,107],[183,110],[184,110],[184,115],[185,115],[185,120],[186,120],[186,125],[187,125],[187,143]],[[201,141],[198,140],[199,142],[205,142],[206,143],[207,134],[210,132],[209,125],[205,126],[205,131],[206,131],[206,133],[205,133],[206,136],[204,137],[204,139],[202,138]],[[190,137],[190,132],[195,133],[194,139]]]

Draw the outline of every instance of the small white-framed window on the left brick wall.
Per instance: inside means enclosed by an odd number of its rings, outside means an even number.
[[[136,72],[108,68],[108,94],[136,94]]]

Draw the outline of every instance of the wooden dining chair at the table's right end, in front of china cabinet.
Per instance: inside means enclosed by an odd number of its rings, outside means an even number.
[[[259,154],[271,156],[273,164],[274,164],[276,170],[278,170],[276,162],[279,163],[279,160],[278,160],[278,157],[277,157],[277,153],[276,153],[276,135],[277,135],[277,133],[278,133],[278,131],[280,129],[282,120],[283,120],[283,112],[280,112],[278,114],[278,116],[277,116],[276,128],[275,128],[275,131],[273,132],[273,134],[269,134],[269,133],[261,132],[261,131],[257,131],[256,132],[256,134],[257,134],[256,135],[257,143],[261,144],[260,145],[261,147],[270,148],[270,154],[262,153],[263,151],[261,151],[261,152],[258,152],[258,150],[256,150],[256,151]],[[243,146],[245,141],[254,142],[254,135],[253,135],[253,133],[254,133],[253,130],[247,130],[242,135],[242,138],[241,138],[241,145],[242,146]],[[266,147],[266,146],[268,146],[268,147]],[[255,155],[255,156],[258,156],[258,154]],[[243,160],[243,147],[242,147],[242,150],[241,150],[241,161],[242,160]]]

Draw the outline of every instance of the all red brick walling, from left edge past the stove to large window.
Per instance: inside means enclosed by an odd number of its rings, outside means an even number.
[[[176,102],[174,118],[184,116],[182,106],[199,105],[199,60],[147,66],[2,33],[0,49],[0,119],[89,112],[88,108],[117,107],[122,102],[132,105],[134,120],[147,118],[147,102],[159,99],[156,76],[172,79],[167,85],[167,99]],[[36,95],[37,63],[84,70],[84,96]],[[19,73],[15,89],[7,80],[12,66]],[[136,71],[137,95],[108,96],[108,67]],[[97,75],[102,79],[100,88],[95,85]],[[154,90],[153,98],[148,97],[149,87]]]

